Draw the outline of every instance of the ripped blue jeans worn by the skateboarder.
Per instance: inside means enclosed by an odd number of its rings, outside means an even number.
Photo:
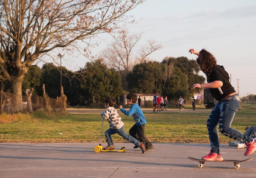
[[[217,125],[219,123],[220,133],[234,140],[243,143],[251,142],[252,138],[246,136],[242,132],[231,128],[231,123],[234,119],[236,111],[240,105],[240,98],[238,94],[230,96],[228,99],[217,102],[209,118],[207,119],[207,129],[209,133],[211,152],[220,153],[220,140]]]

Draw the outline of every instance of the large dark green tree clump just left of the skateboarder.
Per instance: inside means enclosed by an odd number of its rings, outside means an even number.
[[[135,65],[126,80],[131,92],[158,91],[168,99],[177,100],[179,96],[186,98],[200,92],[200,89],[191,89],[193,83],[205,80],[203,76],[198,75],[199,71],[195,60],[166,57],[161,63],[150,61]]]

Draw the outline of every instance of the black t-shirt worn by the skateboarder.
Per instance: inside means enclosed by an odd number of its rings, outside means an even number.
[[[210,88],[211,96],[213,96],[216,100],[222,100],[225,96],[236,92],[234,87],[229,82],[229,74],[225,71],[223,66],[217,65],[217,67],[213,67],[211,74],[207,77],[207,82],[213,81],[222,81],[223,85],[220,87],[223,94],[220,93],[219,89]]]

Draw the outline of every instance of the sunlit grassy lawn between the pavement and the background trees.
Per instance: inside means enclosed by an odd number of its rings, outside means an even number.
[[[197,105],[193,112],[190,105],[185,105],[189,112],[145,111],[146,137],[151,142],[168,143],[209,143],[206,120],[211,110]],[[119,109],[117,109],[119,110]],[[135,124],[131,116],[120,113],[128,132]],[[101,133],[100,113],[85,114],[48,114],[36,111],[32,114],[0,115],[0,142],[97,142]],[[256,105],[244,104],[236,114],[232,127],[245,132],[246,126],[256,125]],[[108,129],[108,122],[103,124],[103,134]],[[113,135],[115,142],[127,142],[121,136]],[[220,142],[232,140],[220,134]],[[102,142],[106,142],[103,135]]]

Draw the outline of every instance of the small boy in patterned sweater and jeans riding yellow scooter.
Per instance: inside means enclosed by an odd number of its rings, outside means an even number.
[[[146,149],[144,143],[139,142],[134,137],[126,133],[124,129],[124,122],[122,122],[121,117],[117,113],[117,110],[115,109],[115,104],[116,104],[116,100],[114,97],[106,98],[105,100],[106,110],[101,113],[102,118],[107,119],[108,124],[110,126],[110,128],[105,131],[105,137],[106,137],[106,142],[108,143],[108,146],[103,149],[105,150],[115,149],[115,145],[113,143],[111,135],[118,134],[119,136],[123,137],[124,140],[128,140],[132,142],[136,147],[139,147],[142,150],[142,153],[144,153]]]

